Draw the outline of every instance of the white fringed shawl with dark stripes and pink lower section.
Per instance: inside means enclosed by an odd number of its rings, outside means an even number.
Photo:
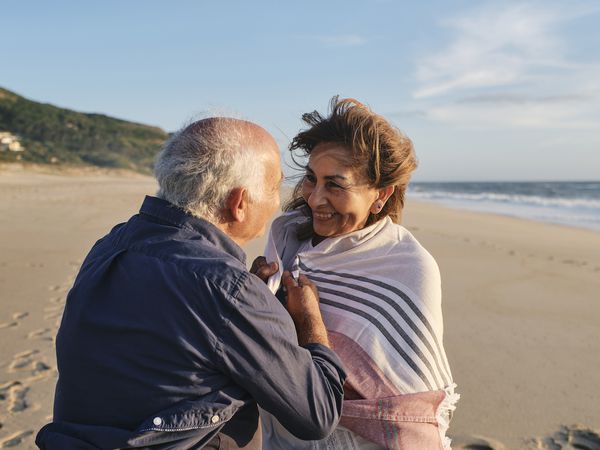
[[[442,342],[435,260],[389,218],[299,252],[306,220],[293,211],[273,222],[265,256],[280,272],[269,287],[276,292],[288,269],[319,289],[332,347],[348,372],[340,433],[356,435],[357,449],[450,448],[445,432],[458,395]],[[263,448],[342,448],[332,445],[340,433],[304,443],[272,416],[262,420]]]

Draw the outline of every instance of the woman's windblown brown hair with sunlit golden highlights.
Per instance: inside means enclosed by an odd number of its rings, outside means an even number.
[[[317,111],[302,115],[302,120],[309,128],[298,133],[292,140],[290,151],[293,160],[298,164],[298,151],[300,156],[307,157],[319,144],[342,145],[349,150],[351,157],[348,161],[341,162],[364,176],[370,187],[395,188],[383,209],[378,214],[371,214],[366,225],[386,216],[399,223],[406,188],[412,172],[417,168],[411,140],[382,116],[355,99],[339,100],[335,96],[331,99],[330,109],[328,117],[323,117]],[[302,198],[300,180],[284,210],[291,211],[303,206],[306,206],[306,201]]]

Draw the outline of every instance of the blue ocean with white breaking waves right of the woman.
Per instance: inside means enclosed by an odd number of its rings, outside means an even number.
[[[600,230],[600,181],[414,182],[407,198]]]

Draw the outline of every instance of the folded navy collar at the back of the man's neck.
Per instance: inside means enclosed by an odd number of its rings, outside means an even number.
[[[140,208],[140,214],[201,234],[213,245],[232,255],[242,264],[246,264],[246,253],[223,231],[207,220],[192,216],[166,200],[147,195]]]

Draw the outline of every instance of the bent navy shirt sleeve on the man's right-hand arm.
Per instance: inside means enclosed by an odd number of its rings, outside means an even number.
[[[217,348],[223,370],[296,437],[327,436],[344,395],[337,355],[320,344],[298,345],[288,312],[254,275],[242,273],[227,306]]]

